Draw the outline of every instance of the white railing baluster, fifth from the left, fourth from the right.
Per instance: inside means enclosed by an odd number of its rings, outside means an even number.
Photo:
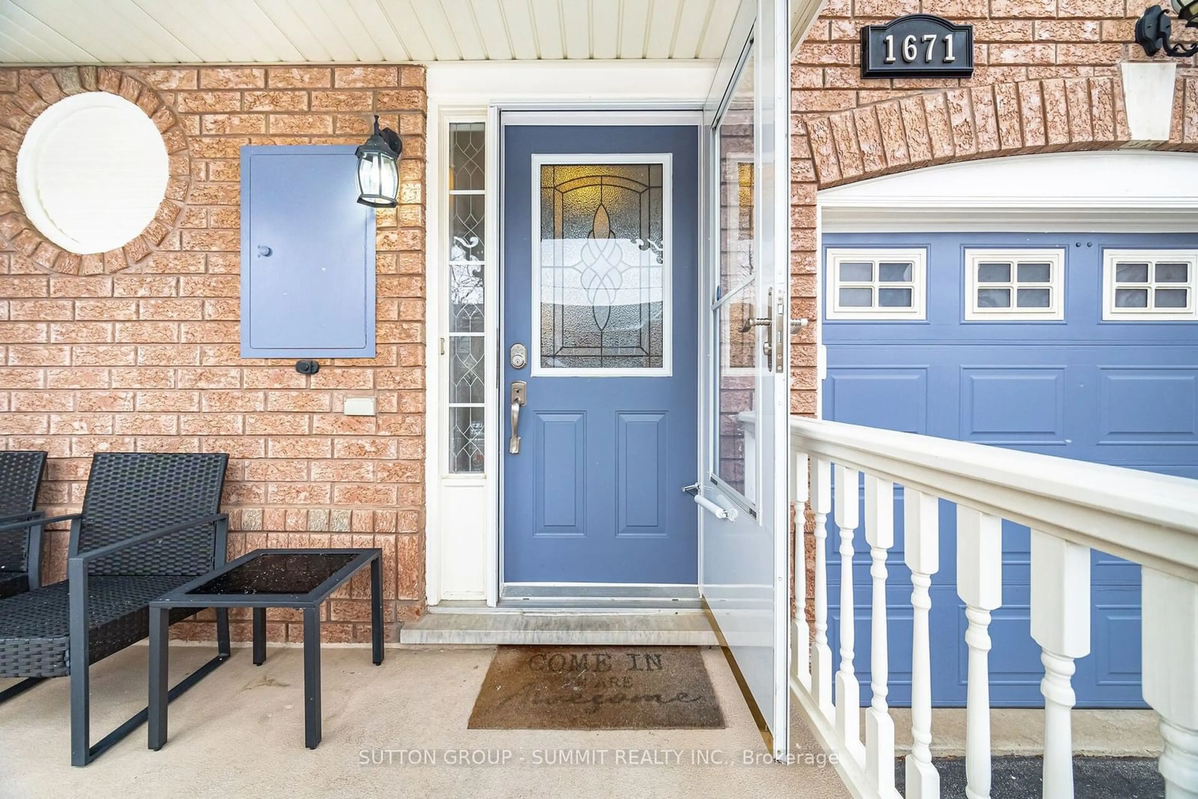
[[[932,764],[932,649],[927,589],[940,570],[940,501],[914,489],[903,490],[903,559],[910,569],[910,755],[907,756],[908,799],[938,799],[940,773]]]

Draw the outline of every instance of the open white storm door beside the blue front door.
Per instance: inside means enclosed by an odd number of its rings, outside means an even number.
[[[742,13],[755,16],[752,32],[730,44],[734,68],[720,74],[731,85],[712,108],[700,588],[780,757],[789,724],[789,14],[787,0],[745,0]]]

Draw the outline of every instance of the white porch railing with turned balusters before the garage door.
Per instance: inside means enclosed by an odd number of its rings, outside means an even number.
[[[894,492],[904,491],[904,561],[912,582],[912,740],[906,795],[940,795],[932,764],[928,586],[939,563],[938,500],[957,504],[957,594],[966,605],[966,795],[990,797],[990,619],[1002,605],[1002,520],[1031,528],[1031,636],[1045,677],[1043,795],[1073,795],[1073,660],[1090,650],[1090,549],[1139,563],[1143,692],[1161,715],[1160,771],[1168,799],[1198,798],[1198,482],[982,444],[793,418],[795,594],[791,688],[857,797],[897,797],[894,721],[887,707],[887,551]],[[833,507],[833,470],[836,477]],[[871,689],[864,742],[853,667],[853,571],[865,477],[872,580]],[[810,486],[810,491],[809,491]],[[900,488],[901,486],[901,488]],[[804,612],[804,507],[815,516],[815,634]],[[841,529],[840,652],[828,647],[828,514]],[[958,646],[937,641],[936,646]],[[835,659],[835,660],[834,660]],[[835,666],[834,662],[839,665]],[[906,665],[906,664],[902,664]]]

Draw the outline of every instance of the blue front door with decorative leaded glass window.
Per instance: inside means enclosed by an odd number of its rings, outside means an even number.
[[[692,126],[504,128],[504,583],[697,582],[698,189]]]

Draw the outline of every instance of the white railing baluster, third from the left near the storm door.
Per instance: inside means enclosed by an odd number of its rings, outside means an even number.
[[[861,745],[861,684],[853,670],[853,534],[861,523],[860,472],[836,465],[835,512],[840,527],[840,670],[836,672],[836,732],[846,751],[865,764]]]

